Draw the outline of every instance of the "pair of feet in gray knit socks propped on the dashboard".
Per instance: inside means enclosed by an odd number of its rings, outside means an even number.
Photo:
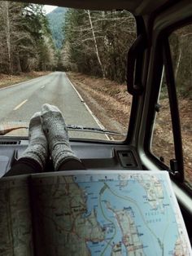
[[[29,122],[28,148],[21,158],[36,161],[45,169],[50,156],[55,170],[67,161],[80,161],[69,144],[68,130],[59,108],[44,104],[41,112],[35,113]]]

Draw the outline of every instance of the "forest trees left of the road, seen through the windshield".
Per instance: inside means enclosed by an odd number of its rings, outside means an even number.
[[[0,55],[0,73],[55,67],[55,46],[41,5],[0,2]]]

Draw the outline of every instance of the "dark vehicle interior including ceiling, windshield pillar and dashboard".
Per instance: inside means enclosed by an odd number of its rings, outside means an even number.
[[[133,13],[137,23],[137,36],[140,36],[140,40],[136,40],[138,42],[135,43],[135,48],[133,47],[131,50],[133,52],[130,52],[128,56],[130,65],[135,66],[135,61],[137,61],[136,71],[133,70],[135,77],[132,81],[130,78],[128,79],[128,90],[133,95],[129,136],[124,142],[71,139],[71,145],[76,155],[81,158],[89,170],[164,170],[165,166],[161,165],[150,152],[151,127],[155,118],[155,104],[163,70],[162,56],[157,51],[159,44],[164,42],[165,32],[168,33],[174,26],[179,26],[185,23],[185,20],[191,19],[192,3],[186,0],[33,0],[33,2],[101,11],[126,9]],[[0,156],[2,156],[0,166],[6,172],[15,157],[20,156],[27,147],[28,140],[10,139],[8,136],[4,136],[2,140],[13,141],[11,147],[10,145],[0,145]],[[182,189],[181,183],[177,182],[177,179],[173,177],[172,180],[186,226],[190,227],[189,223],[192,221],[190,192]],[[188,230],[188,232],[192,236],[191,231]]]

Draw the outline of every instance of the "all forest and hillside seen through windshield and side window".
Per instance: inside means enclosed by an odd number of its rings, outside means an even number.
[[[191,35],[189,25],[170,38],[178,86],[190,97]],[[42,5],[0,1],[0,73],[71,70],[124,83],[135,38],[129,11],[58,7],[46,15]]]

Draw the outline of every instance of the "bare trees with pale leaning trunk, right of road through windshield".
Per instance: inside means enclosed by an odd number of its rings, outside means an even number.
[[[126,56],[136,37],[129,11],[71,9],[64,31],[71,62],[79,72],[125,81]]]

